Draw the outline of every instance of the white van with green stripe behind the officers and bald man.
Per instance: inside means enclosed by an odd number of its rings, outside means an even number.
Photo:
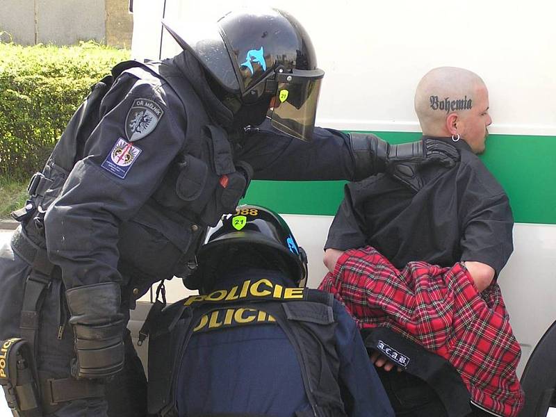
[[[556,319],[553,2],[234,1],[234,8],[240,6],[286,10],[311,35],[318,66],[325,70],[319,126],[372,131],[395,143],[416,140],[414,92],[428,70],[449,65],[482,76],[493,124],[481,158],[509,195],[516,222],[514,254],[498,282],[523,351],[521,375]],[[161,40],[163,13],[183,24],[215,22],[232,6],[224,0],[134,0],[133,7],[133,57],[164,58],[177,54],[179,47],[167,33]],[[314,287],[326,272],[322,245],[342,197],[342,181],[254,181],[245,202],[284,214],[309,254],[309,286]],[[185,295],[181,280],[170,286],[175,286],[169,291],[172,300]],[[145,311],[140,306],[133,315],[138,320],[131,323],[133,329]]]

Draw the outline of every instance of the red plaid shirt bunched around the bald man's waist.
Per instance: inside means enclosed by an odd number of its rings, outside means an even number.
[[[359,327],[390,327],[450,361],[473,402],[502,416],[523,406],[521,349],[500,287],[477,293],[462,263],[410,262],[400,271],[367,246],[346,251],[320,289],[334,294]]]

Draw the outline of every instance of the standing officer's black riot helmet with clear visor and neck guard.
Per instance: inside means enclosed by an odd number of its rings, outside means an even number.
[[[167,19],[163,25],[235,97],[236,108],[223,101],[234,113],[242,106],[265,106],[276,129],[311,139],[324,72],[293,16],[265,8],[228,13],[212,26],[182,27]]]

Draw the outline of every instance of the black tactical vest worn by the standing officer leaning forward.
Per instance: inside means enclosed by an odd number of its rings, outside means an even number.
[[[162,80],[185,108],[185,145],[160,188],[133,219],[120,225],[118,242],[118,270],[132,277],[135,286],[145,289],[154,281],[183,273],[187,262],[195,257],[206,226],[215,225],[222,214],[236,209],[252,176],[249,165],[234,162],[226,131],[211,122],[183,74],[165,65],[165,75],[161,76],[159,69],[158,65],[126,61],[92,88],[42,172],[31,179],[31,205],[19,211],[17,218],[23,222],[28,237],[44,248],[44,213],[60,193],[74,164],[85,156],[85,141],[101,120],[100,103],[113,81],[120,74]],[[222,176],[226,177],[225,188],[220,185]]]

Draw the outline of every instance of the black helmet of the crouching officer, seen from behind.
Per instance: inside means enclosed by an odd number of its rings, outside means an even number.
[[[262,256],[269,263],[272,259],[279,261],[276,264],[284,266],[295,284],[305,285],[307,256],[297,245],[288,224],[268,208],[244,205],[238,206],[236,213],[222,216],[215,227],[208,229],[204,244],[197,252],[200,289],[210,289],[215,284],[211,270],[222,263],[233,264],[230,259],[245,253]],[[244,260],[241,266],[252,266],[250,259]]]

